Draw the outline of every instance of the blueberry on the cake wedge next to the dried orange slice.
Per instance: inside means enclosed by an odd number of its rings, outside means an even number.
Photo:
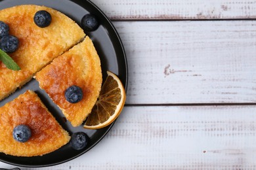
[[[77,103],[83,99],[83,91],[78,86],[70,86],[65,91],[66,100],[70,103]]]

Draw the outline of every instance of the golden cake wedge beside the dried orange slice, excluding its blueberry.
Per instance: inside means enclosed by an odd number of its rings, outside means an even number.
[[[100,58],[89,37],[39,71],[35,78],[60,107],[72,126],[79,126],[96,103],[102,84]],[[65,91],[70,86],[81,88],[83,98],[70,103]]]

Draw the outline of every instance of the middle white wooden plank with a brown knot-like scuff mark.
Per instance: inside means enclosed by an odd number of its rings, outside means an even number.
[[[127,52],[127,104],[256,102],[256,21],[114,25]]]

